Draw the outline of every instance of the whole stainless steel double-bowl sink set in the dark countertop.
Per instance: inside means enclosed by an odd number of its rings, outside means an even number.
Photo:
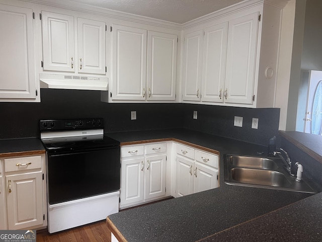
[[[290,176],[285,162],[276,157],[225,155],[224,175],[228,185],[316,193],[304,180]]]

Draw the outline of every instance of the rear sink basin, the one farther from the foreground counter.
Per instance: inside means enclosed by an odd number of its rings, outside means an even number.
[[[246,168],[265,170],[274,170],[278,168],[273,160],[263,157],[231,155],[229,156],[229,162],[233,166]]]

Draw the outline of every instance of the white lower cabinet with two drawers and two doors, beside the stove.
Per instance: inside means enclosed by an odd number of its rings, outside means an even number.
[[[120,208],[166,196],[166,143],[121,147]]]

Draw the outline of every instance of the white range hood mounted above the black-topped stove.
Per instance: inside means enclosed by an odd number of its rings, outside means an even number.
[[[107,77],[39,74],[40,88],[108,90]]]

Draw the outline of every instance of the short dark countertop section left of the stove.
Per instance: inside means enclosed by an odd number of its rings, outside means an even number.
[[[0,157],[42,154],[45,152],[45,148],[38,138],[0,140]]]

